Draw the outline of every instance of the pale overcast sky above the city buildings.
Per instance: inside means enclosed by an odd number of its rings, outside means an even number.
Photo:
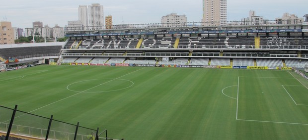
[[[303,17],[308,14],[308,0],[227,0],[228,21],[247,17],[249,10],[257,16],[274,20],[283,13]],[[31,28],[32,22],[42,21],[54,27],[64,27],[78,20],[78,5],[100,3],[104,16],[112,15],[113,24],[160,23],[171,12],[185,14],[188,22],[202,19],[202,0],[3,0],[0,21],[10,21],[13,27]]]

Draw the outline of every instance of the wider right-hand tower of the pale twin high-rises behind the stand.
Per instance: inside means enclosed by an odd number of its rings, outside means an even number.
[[[88,5],[89,26],[92,29],[103,29],[104,26],[104,8],[99,3]]]

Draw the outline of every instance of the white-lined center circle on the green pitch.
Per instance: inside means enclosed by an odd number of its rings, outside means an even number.
[[[106,93],[124,90],[133,85],[134,82],[126,79],[91,79],[72,83],[67,89],[79,93]]]

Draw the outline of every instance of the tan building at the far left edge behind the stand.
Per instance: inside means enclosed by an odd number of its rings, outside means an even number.
[[[7,21],[0,22],[0,45],[15,44],[12,23]]]

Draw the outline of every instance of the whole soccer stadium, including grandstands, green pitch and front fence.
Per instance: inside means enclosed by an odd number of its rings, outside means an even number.
[[[0,47],[0,140],[306,140],[308,25],[65,28]]]

